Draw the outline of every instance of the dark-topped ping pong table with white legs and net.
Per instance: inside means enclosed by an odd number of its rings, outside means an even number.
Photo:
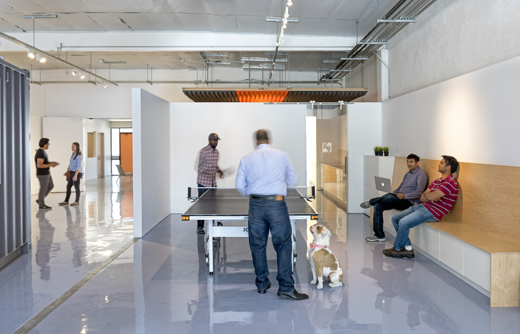
[[[191,191],[206,190],[200,197],[191,196]],[[296,262],[296,219],[318,219],[318,213],[309,205],[310,199],[316,198],[313,187],[288,187],[285,203],[289,211],[292,226],[293,258]],[[191,206],[181,215],[182,220],[204,220],[206,264],[210,266],[213,275],[213,246],[218,245],[221,237],[249,237],[249,197],[240,195],[236,188],[188,188],[188,199]],[[307,202],[308,201],[308,202]],[[226,222],[244,222],[239,226],[226,226]],[[269,231],[269,236],[271,232]],[[212,245],[213,243],[213,245]]]

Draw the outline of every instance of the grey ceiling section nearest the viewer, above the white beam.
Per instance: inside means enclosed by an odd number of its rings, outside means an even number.
[[[380,0],[383,16],[397,0]],[[275,34],[284,0],[2,0],[0,31],[206,31]],[[375,25],[378,0],[294,0],[287,34],[359,36]]]

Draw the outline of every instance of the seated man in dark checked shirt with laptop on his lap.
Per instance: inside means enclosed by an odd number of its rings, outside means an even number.
[[[419,167],[419,162],[419,156],[408,155],[406,157],[408,172],[397,189],[384,196],[361,203],[363,209],[374,206],[374,235],[366,237],[367,241],[386,241],[383,231],[384,210],[406,210],[414,205],[415,201],[421,203],[420,198],[428,184],[428,175]]]

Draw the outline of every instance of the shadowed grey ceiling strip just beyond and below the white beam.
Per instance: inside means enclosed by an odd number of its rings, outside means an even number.
[[[210,52],[214,54],[215,52]],[[217,52],[218,53],[218,52]],[[214,64],[213,66],[226,66],[226,67],[238,67],[247,64],[242,63],[241,58],[247,58],[248,52],[222,52],[229,57],[204,57],[204,59],[210,59],[211,61],[229,61],[231,64]],[[51,54],[57,56],[57,52],[51,52]],[[5,61],[18,66],[22,69],[64,69],[63,64],[54,60],[48,60],[45,63],[36,62],[27,57],[27,52],[2,52],[2,56],[5,57]],[[345,55],[345,54],[343,54]],[[90,64],[90,52],[81,51],[68,51],[61,52],[62,59],[81,66],[84,69],[88,69]],[[251,57],[262,57],[271,58],[269,55],[264,55],[264,52],[251,52]],[[278,56],[277,59],[283,59],[287,56]],[[341,53],[332,52],[308,52],[308,51],[293,51],[289,56],[289,65],[291,71],[310,71],[316,72],[318,68],[333,68],[335,63],[323,63],[323,60],[339,59]],[[197,52],[168,52],[168,51],[144,51],[144,52],[92,52],[92,72],[95,68],[108,69],[109,64],[100,62],[99,60],[105,61],[126,61],[124,64],[110,64],[111,69],[142,69],[148,64],[149,68],[154,69],[202,69],[202,56]],[[184,61],[181,61],[184,59]],[[198,59],[198,63],[197,63]],[[270,63],[270,61],[252,61],[251,65],[260,65],[262,63]],[[285,64],[287,62],[277,62],[277,64]],[[331,66],[332,65],[332,66]],[[267,70],[265,70],[267,71]]]

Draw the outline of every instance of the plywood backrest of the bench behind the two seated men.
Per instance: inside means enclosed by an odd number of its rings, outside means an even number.
[[[440,177],[438,164],[438,160],[421,159],[420,166],[428,174],[429,183]],[[459,165],[455,175],[459,195],[446,218],[520,244],[520,167]],[[406,158],[395,157],[392,188],[397,188],[407,171]]]

